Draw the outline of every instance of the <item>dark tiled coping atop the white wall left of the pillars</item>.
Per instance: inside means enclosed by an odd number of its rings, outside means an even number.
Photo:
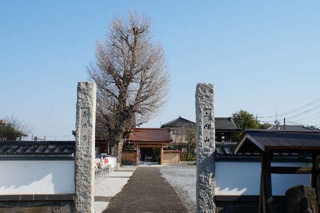
[[[74,141],[0,141],[1,154],[72,154]]]

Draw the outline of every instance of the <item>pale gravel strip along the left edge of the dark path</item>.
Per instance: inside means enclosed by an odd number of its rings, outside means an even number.
[[[127,176],[131,176],[135,169],[135,165],[123,166],[120,168],[120,171],[110,171],[108,177],[96,178],[94,181],[94,195],[108,197],[114,196],[121,191],[123,185],[125,185],[129,179]],[[109,202],[105,201],[94,201],[94,211],[96,213],[102,212],[105,208],[107,208],[108,204]]]

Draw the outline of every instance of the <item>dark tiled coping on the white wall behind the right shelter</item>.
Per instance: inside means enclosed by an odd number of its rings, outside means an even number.
[[[260,161],[260,153],[236,153],[233,150],[236,142],[215,142],[216,160],[256,160]],[[277,160],[309,161],[310,154],[306,153],[273,153]],[[275,160],[276,161],[276,160]]]

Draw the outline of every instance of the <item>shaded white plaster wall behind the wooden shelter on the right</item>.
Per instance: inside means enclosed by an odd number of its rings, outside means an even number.
[[[311,167],[311,163],[273,162],[272,166]],[[259,195],[260,162],[215,162],[216,195]],[[310,174],[271,174],[272,195],[284,195],[286,189],[293,185],[310,185]]]

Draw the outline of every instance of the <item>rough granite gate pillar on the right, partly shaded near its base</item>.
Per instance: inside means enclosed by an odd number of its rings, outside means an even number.
[[[214,84],[198,83],[196,115],[196,212],[215,212]]]

